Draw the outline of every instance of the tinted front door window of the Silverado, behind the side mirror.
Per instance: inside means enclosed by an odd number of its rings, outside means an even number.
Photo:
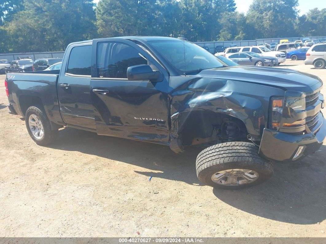
[[[98,43],[96,59],[99,78],[127,79],[128,67],[148,64],[139,51],[120,42]]]

